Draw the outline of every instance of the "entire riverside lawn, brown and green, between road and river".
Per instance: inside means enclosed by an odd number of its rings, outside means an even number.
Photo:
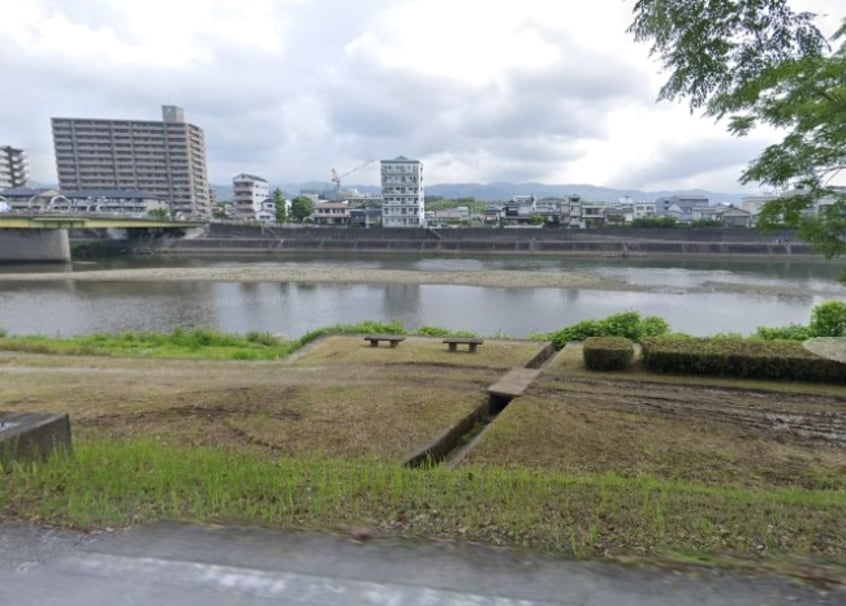
[[[249,362],[0,352],[0,411],[68,412],[74,432],[72,458],[2,470],[0,515],[364,527],[846,577],[842,387],[592,373],[569,346],[460,463],[403,467],[542,345],[333,336]]]

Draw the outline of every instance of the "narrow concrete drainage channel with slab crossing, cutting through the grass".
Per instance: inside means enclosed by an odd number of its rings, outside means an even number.
[[[547,343],[522,368],[512,368],[488,387],[488,400],[453,425],[445,434],[409,458],[406,467],[430,467],[446,463],[458,465],[482,438],[490,425],[511,400],[523,394],[541,369],[555,356],[552,343]]]

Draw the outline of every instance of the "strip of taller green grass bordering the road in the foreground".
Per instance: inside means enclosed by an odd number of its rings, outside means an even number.
[[[79,527],[188,519],[363,524],[575,557],[672,553],[843,563],[846,491],[706,487],[613,474],[268,459],[152,440],[83,441],[75,457],[0,470],[0,515]]]

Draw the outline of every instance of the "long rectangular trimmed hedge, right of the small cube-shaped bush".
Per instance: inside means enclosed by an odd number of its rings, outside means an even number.
[[[846,384],[846,365],[797,341],[655,337],[641,346],[641,363],[653,372]]]

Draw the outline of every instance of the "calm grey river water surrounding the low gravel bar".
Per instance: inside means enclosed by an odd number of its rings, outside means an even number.
[[[209,267],[244,263],[298,267],[476,272],[577,270],[612,278],[632,290],[498,288],[433,284],[304,284],[289,282],[79,281],[76,272],[136,267]],[[4,273],[61,271],[51,266],[0,266],[0,328],[9,334],[70,335],[116,330],[166,331],[206,326],[227,332],[270,331],[289,337],[335,323],[396,320],[525,337],[586,318],[636,310],[661,316],[694,335],[748,334],[757,326],[806,324],[814,305],[846,300],[835,282],[843,264],[818,259],[727,261],[584,260],[561,257],[350,257],[282,259],[146,257],[76,262],[67,278],[2,281]]]

